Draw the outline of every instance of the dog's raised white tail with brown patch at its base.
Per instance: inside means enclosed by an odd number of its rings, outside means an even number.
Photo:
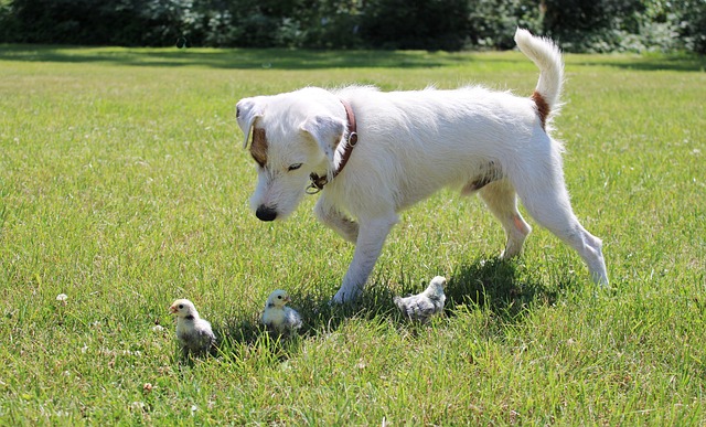
[[[564,61],[559,47],[549,39],[530,34],[527,30],[515,32],[517,47],[539,67],[539,82],[532,94],[543,127],[549,114],[560,107],[559,95],[564,83]]]

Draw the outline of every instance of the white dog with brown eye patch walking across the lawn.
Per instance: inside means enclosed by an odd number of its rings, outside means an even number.
[[[334,302],[360,296],[398,212],[449,185],[478,192],[498,217],[507,237],[503,258],[517,255],[531,232],[517,211],[520,195],[541,225],[579,253],[593,281],[608,284],[601,241],[574,215],[561,146],[547,134],[559,106],[561,54],[525,30],[515,42],[541,71],[528,98],[481,87],[352,86],[238,102],[245,147],[253,134],[258,163],[250,200],[257,217],[286,218],[307,192],[321,190],[317,216],[355,243]]]

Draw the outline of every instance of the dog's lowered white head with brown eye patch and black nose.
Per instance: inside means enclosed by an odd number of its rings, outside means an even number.
[[[301,201],[309,175],[330,174],[346,130],[345,109],[328,90],[304,88],[237,104],[238,126],[252,138],[258,183],[250,206],[261,221],[285,218]]]

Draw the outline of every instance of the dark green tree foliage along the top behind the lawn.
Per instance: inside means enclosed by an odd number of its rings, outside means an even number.
[[[0,0],[0,42],[706,53],[706,0]]]

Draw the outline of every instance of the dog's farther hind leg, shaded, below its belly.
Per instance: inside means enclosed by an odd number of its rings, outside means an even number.
[[[479,195],[485,202],[490,212],[495,215],[505,231],[507,242],[505,250],[500,255],[502,259],[509,259],[520,254],[525,238],[532,232],[532,227],[517,211],[517,194],[510,181],[502,179],[483,186]]]

